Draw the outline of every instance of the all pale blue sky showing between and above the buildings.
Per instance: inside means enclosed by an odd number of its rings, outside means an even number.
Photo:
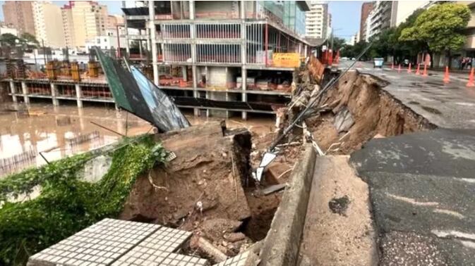
[[[58,6],[67,4],[68,1],[53,1]],[[328,9],[332,14],[332,27],[335,36],[350,39],[359,31],[359,19],[361,16],[361,4],[363,1],[327,1]],[[99,1],[100,4],[107,5],[109,14],[121,15],[121,1]],[[1,5],[4,1],[0,1]],[[0,12],[0,20],[4,20],[3,10]]]

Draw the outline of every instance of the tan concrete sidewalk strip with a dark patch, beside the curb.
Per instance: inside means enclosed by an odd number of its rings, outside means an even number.
[[[313,261],[313,265],[375,265],[376,232],[368,197],[368,185],[356,176],[348,156],[318,157],[301,257]],[[347,198],[344,212],[335,213],[329,208],[335,198]]]

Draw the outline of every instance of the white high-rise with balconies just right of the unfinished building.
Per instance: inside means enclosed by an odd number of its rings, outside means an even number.
[[[311,1],[310,11],[306,12],[306,37],[327,38],[330,23],[328,4],[321,1]]]

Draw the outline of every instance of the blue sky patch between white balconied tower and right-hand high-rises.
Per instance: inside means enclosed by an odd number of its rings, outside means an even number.
[[[350,39],[359,32],[361,4],[364,1],[328,1],[334,36]]]

